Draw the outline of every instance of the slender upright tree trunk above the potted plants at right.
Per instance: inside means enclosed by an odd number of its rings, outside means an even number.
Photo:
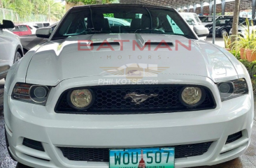
[[[232,25],[232,38],[231,38],[231,48],[233,48],[234,41],[236,40],[236,36],[238,35],[238,26],[239,26],[239,10],[240,10],[240,0],[235,0],[234,6],[234,17],[233,17],[233,25]]]

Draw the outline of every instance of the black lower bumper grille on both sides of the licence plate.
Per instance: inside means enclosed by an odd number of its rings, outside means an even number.
[[[187,158],[197,155],[203,155],[213,142],[204,142],[200,144],[186,144],[171,146],[175,148],[175,158]],[[164,146],[163,146],[164,147]],[[170,146],[168,146],[170,147]],[[110,148],[69,148],[59,147],[65,158],[73,161],[87,162],[109,162]]]

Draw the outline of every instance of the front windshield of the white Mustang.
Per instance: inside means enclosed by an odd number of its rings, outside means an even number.
[[[52,40],[97,33],[159,33],[196,38],[180,15],[159,8],[74,8]]]

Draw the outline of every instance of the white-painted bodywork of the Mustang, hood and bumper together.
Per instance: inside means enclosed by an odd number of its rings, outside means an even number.
[[[204,40],[163,34],[102,33],[71,36],[62,40],[51,40],[52,36],[47,43],[29,50],[23,59],[10,68],[6,77],[3,96],[5,128],[8,149],[18,162],[36,168],[108,168],[108,162],[68,160],[58,147],[142,148],[213,142],[203,155],[175,160],[177,168],[197,167],[232,160],[248,148],[254,118],[253,87],[246,68],[227,50]],[[108,40],[108,43],[114,40],[129,42],[124,43],[123,51],[120,45],[113,45],[114,51],[109,48],[97,50],[99,45],[91,51],[80,51],[78,40],[92,40],[99,44],[104,40]],[[152,45],[150,51],[148,47],[141,51],[138,47],[133,49],[134,40],[141,47],[148,40],[151,43],[164,40],[173,45],[170,46],[171,51],[166,48],[154,51],[156,45]],[[187,49],[190,43],[191,49]],[[84,46],[83,49],[90,49],[87,47],[88,41],[80,44]],[[141,57],[138,59],[138,56]],[[154,77],[157,84],[204,86],[211,91],[215,107],[155,114],[56,112],[55,107],[64,91],[85,86],[105,86],[99,84],[99,79],[123,79],[125,77],[109,75],[101,67],[120,67],[129,63],[169,67]],[[248,94],[222,101],[218,83],[241,78],[246,79]],[[141,83],[149,79],[152,77],[143,77]],[[45,106],[14,100],[12,93],[17,82],[50,86]],[[240,131],[241,138],[225,144],[229,135]],[[24,137],[41,142],[45,151],[24,146]]]

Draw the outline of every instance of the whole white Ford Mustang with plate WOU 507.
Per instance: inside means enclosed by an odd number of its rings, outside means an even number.
[[[114,26],[105,17],[131,22]],[[195,33],[197,34],[195,34]],[[6,143],[30,167],[194,167],[250,144],[246,68],[172,8],[71,8],[9,70]]]

